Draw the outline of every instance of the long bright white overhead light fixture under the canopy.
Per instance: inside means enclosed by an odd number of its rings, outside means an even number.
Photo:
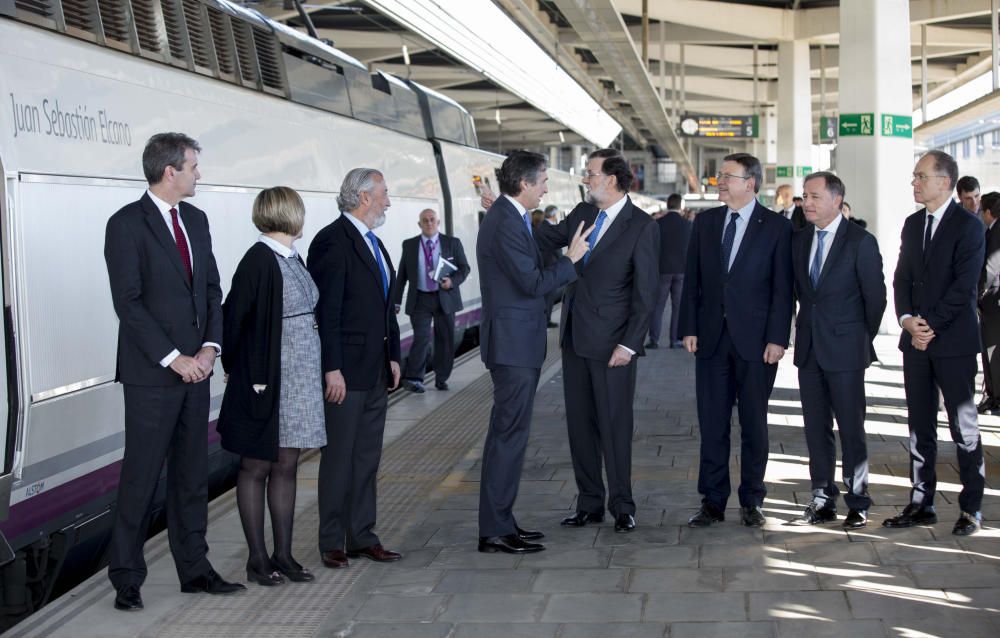
[[[597,146],[621,131],[601,105],[491,0],[365,0]]]

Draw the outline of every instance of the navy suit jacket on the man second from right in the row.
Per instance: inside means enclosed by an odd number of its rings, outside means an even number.
[[[885,313],[882,255],[875,237],[846,218],[830,238],[819,281],[809,278],[815,228],[792,236],[792,269],[799,313],[795,320],[795,365],[805,364],[810,348],[824,370],[862,370],[875,358],[872,341]]]

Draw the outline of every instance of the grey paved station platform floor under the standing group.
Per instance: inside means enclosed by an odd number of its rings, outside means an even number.
[[[694,359],[682,350],[659,349],[639,363],[633,449],[638,528],[616,534],[610,520],[582,529],[559,526],[574,509],[576,486],[556,331],[549,337],[516,509],[521,525],[545,532],[546,551],[524,557],[476,551],[479,459],[492,388],[475,351],[456,367],[450,392],[400,392],[391,399],[377,531],[388,547],[404,553],[402,561],[359,559],[348,569],[323,567],[316,546],[319,456],[312,453],[299,472],[295,555],[316,574],[315,582],[250,585],[245,594],[227,597],[181,594],[164,533],[146,545],[144,611],[115,611],[102,572],[5,636],[1000,635],[1000,417],[980,421],[988,486],[980,534],[959,539],[950,533],[959,485],[945,429],[940,522],[909,530],[881,527],[908,501],[906,410],[895,339],[878,338],[882,363],[867,375],[875,501],[868,528],[783,524],[811,497],[791,352],[781,362],[770,404],[767,525],[742,527],[734,495],[724,523],[688,528],[699,505]],[[738,477],[736,427],[733,441]],[[227,579],[243,581],[246,546],[235,493],[213,501],[209,515],[212,563]]]

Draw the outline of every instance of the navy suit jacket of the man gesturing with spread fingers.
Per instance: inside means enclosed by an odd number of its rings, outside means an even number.
[[[540,368],[545,361],[545,295],[576,279],[568,257],[543,268],[524,220],[505,196],[497,197],[476,240],[483,295],[480,356],[487,368]]]

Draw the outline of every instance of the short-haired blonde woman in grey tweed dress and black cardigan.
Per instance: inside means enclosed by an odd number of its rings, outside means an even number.
[[[239,454],[236,503],[250,547],[247,579],[280,585],[313,575],[292,557],[295,475],[302,448],[326,445],[316,285],[292,243],[305,207],[291,188],[261,191],[253,204],[257,242],[243,256],[223,304],[219,413],[222,447]],[[274,554],[264,541],[264,501]]]

